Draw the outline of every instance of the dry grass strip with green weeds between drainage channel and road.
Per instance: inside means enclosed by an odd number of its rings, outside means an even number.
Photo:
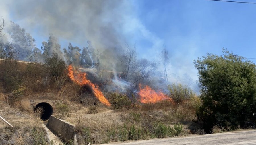
[[[164,123],[168,131],[168,126],[174,127],[178,122],[186,122],[194,119],[194,115],[189,115],[190,107],[186,105],[169,105],[160,107],[162,104],[149,104],[147,106],[157,106],[157,109],[149,111],[139,109],[132,110],[110,110],[104,107],[98,107],[97,114],[84,114],[88,108],[82,106],[78,111],[72,112],[66,120],[75,125],[78,132],[80,143],[107,143],[113,141],[137,140],[155,138],[158,134],[154,130],[154,125]],[[144,104],[146,106],[146,104]],[[168,110],[167,110],[168,108]],[[193,110],[195,111],[195,110]],[[194,112],[193,112],[194,113]],[[183,117],[177,116],[177,114]],[[79,116],[79,117],[77,117]],[[186,117],[185,117],[186,116]],[[188,126],[184,126],[178,135],[187,135]],[[172,131],[171,129],[170,131]],[[161,135],[160,135],[161,136]],[[174,136],[173,133],[164,133],[164,136]]]

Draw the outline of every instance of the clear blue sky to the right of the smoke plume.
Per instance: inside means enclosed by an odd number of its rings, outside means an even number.
[[[238,55],[255,58],[256,5],[163,0],[140,1],[138,7],[143,24],[163,39],[170,51],[196,49],[200,57],[207,52],[221,54],[225,47]],[[190,44],[197,48],[189,48]]]

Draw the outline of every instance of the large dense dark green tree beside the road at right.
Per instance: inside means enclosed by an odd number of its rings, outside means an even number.
[[[225,49],[223,52],[223,56],[207,53],[194,61],[202,100],[197,118],[207,132],[214,125],[235,129],[255,120],[255,64]]]

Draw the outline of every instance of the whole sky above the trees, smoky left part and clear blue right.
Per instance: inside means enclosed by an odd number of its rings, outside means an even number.
[[[110,0],[105,2],[107,6],[104,6],[105,4],[102,6],[101,11],[104,13],[99,18],[97,15],[94,17],[95,14],[100,13],[98,11],[95,11],[92,16],[88,14],[94,9],[85,11],[82,6],[79,8],[73,6],[69,11],[63,11],[61,9],[65,4],[63,2],[59,10],[52,11],[50,10],[52,7],[48,7],[44,1],[33,2],[31,0],[20,3],[14,0],[4,0],[6,5],[0,6],[0,14],[2,13],[7,20],[12,20],[25,28],[36,39],[39,48],[41,42],[48,39],[50,32],[59,38],[62,48],[67,47],[68,42],[79,47],[86,47],[87,40],[98,40],[92,42],[98,45],[102,38],[109,37],[108,31],[98,32],[100,28],[105,28],[105,25],[110,25],[106,28],[114,31],[111,33],[115,37],[111,40],[120,38],[121,46],[125,46],[125,43],[133,45],[136,42],[137,56],[140,58],[146,57],[158,61],[157,54],[164,45],[170,53],[168,72],[172,81],[182,81],[186,75],[191,78],[190,82],[197,80],[197,70],[194,68],[193,59],[207,52],[221,55],[222,48],[227,48],[234,54],[256,58],[256,4],[208,0]],[[116,4],[119,2],[120,5]],[[255,1],[247,0],[247,2]],[[65,7],[69,5],[71,4],[67,3]],[[112,5],[114,7],[111,7]],[[71,11],[78,11],[77,9],[80,13],[75,16],[71,15],[71,21],[78,21],[75,27],[67,29],[69,27],[65,27],[65,23],[58,23],[65,17],[61,15],[62,12],[69,14]],[[58,13],[60,11],[61,13]],[[59,17],[61,18],[58,19]],[[92,19],[84,17],[98,19],[96,23],[88,23],[87,26],[87,21]],[[65,22],[68,21],[69,19]],[[98,21],[102,23],[99,26]],[[88,32],[88,29],[91,29],[89,24],[96,24],[98,27]],[[83,26],[85,29],[80,31]],[[76,35],[74,36],[73,33]],[[104,44],[106,43],[102,43]],[[97,47],[102,47],[102,45]],[[251,61],[256,62],[253,59]],[[159,68],[161,70],[161,67]]]

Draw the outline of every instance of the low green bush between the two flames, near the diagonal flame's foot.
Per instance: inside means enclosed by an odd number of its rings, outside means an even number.
[[[109,97],[113,109],[130,109],[132,101],[126,94],[112,93]]]

